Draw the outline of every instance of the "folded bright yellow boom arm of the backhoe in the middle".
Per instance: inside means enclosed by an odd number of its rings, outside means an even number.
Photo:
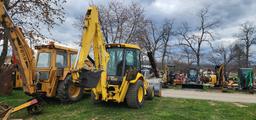
[[[99,22],[99,12],[96,6],[91,6],[87,10],[84,20],[84,30],[81,40],[81,49],[76,61],[75,69],[80,70],[84,67],[84,61],[87,59],[90,49],[93,48],[95,68],[98,71],[102,71],[100,75],[100,82],[97,84],[97,92],[102,92],[102,97],[107,96],[107,63],[109,60],[109,54],[106,50],[105,41],[101,32],[101,26]],[[73,78],[76,79],[78,74],[73,74]],[[94,92],[96,89],[93,89]]]

